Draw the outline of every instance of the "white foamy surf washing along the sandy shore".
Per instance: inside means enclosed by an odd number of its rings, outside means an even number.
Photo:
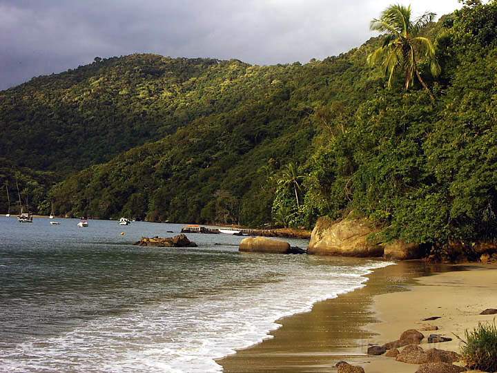
[[[220,372],[215,359],[269,338],[278,319],[358,289],[371,270],[390,264],[315,265],[277,274],[270,283],[240,283],[231,291],[206,291],[95,318],[65,334],[33,336],[0,351],[0,370]]]

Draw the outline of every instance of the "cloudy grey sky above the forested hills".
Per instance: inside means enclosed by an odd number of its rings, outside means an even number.
[[[458,0],[0,0],[0,90],[95,57],[170,57],[278,64],[360,46],[391,3],[438,16]]]

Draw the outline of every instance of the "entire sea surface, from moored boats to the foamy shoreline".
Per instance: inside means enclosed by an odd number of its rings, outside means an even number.
[[[135,247],[182,226],[57,221],[0,217],[1,372],[220,372],[215,358],[386,265],[242,254],[242,238],[229,235],[188,235],[197,248]]]

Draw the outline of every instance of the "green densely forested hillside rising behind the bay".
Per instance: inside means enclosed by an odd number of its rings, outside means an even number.
[[[353,209],[386,239],[496,239],[497,2],[418,30],[436,52],[390,88],[367,64],[381,37],[304,65],[133,55],[38,78],[1,93],[1,155],[92,164],[51,189],[61,214],[312,227]]]

